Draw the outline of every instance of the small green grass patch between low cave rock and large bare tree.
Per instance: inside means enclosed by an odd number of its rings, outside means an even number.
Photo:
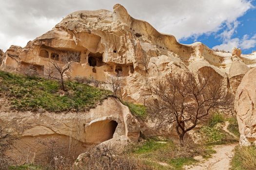
[[[134,104],[131,102],[122,102],[124,105],[128,106],[131,113],[134,116],[145,118],[147,116],[146,107],[142,104]]]

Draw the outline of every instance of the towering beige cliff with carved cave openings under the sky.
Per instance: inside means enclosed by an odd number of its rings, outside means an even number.
[[[120,95],[131,102],[143,101],[151,81],[186,69],[199,60],[211,65],[200,70],[218,70],[216,73],[221,72],[222,78],[235,58],[249,68],[256,65],[256,54],[242,55],[239,49],[227,53],[213,51],[199,42],[180,44],[173,35],[159,33],[116,4],[113,12],[71,13],[51,31],[28,42],[26,47],[11,46],[3,55],[1,69],[20,72],[32,66],[44,75],[49,60],[59,60],[61,64],[59,53],[65,51],[80,53],[79,62],[66,72],[70,78],[93,76],[107,81],[110,75],[119,75],[122,79]]]

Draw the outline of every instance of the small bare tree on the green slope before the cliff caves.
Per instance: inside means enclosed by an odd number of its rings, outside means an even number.
[[[64,85],[64,73],[69,70],[75,62],[79,62],[80,53],[75,51],[62,51],[50,60],[51,66],[46,69],[48,78],[57,79],[61,83],[61,89],[66,91]]]

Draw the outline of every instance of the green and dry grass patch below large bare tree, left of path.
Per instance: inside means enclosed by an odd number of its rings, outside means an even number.
[[[196,162],[193,148],[182,148],[170,139],[150,138],[135,147],[133,154],[156,170],[181,170],[184,165]],[[192,153],[192,154],[191,154]],[[165,163],[168,166],[162,166]]]

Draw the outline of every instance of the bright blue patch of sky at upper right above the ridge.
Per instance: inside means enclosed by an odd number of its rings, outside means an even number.
[[[234,39],[239,39],[238,41],[235,41],[235,44],[238,44],[238,47],[242,49],[242,53],[244,54],[249,54],[252,53],[252,51],[256,51],[256,0],[251,1],[251,3],[254,7],[249,9],[243,16],[236,19],[237,27],[235,28],[234,33],[231,35],[231,37],[229,37],[229,39],[227,39],[226,41],[228,43]],[[179,42],[182,44],[191,44],[193,42],[199,41],[204,43],[208,47],[213,48],[217,45],[222,44],[225,41],[225,39],[221,37],[221,34],[229,28],[226,22],[222,23],[221,27],[222,28],[217,32],[212,32],[208,34],[204,33],[202,35],[199,35],[198,37],[190,36],[188,38],[181,38]],[[232,24],[232,28],[234,28],[234,24]],[[244,40],[249,40],[251,44],[246,41],[244,45],[239,45]],[[230,51],[228,49],[224,50]]]

